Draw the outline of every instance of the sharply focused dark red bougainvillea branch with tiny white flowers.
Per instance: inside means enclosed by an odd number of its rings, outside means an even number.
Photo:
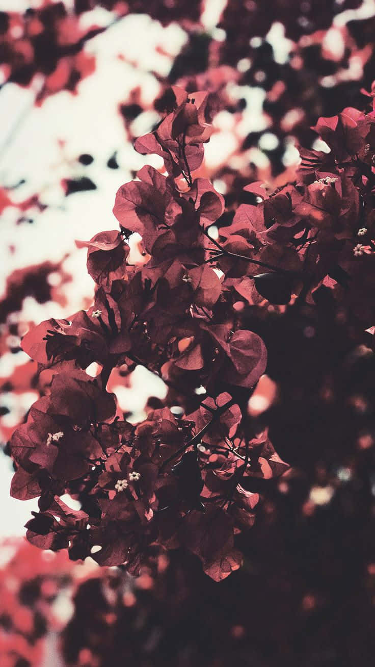
[[[93,306],[23,338],[45,395],[13,434],[11,493],[40,496],[27,538],[41,548],[132,574],[182,548],[222,580],[240,566],[234,537],[254,522],[260,480],[288,468],[248,414],[266,370],[254,313],[334,299],[354,340],[375,323],[375,114],[321,118],[314,129],[330,152],[301,150],[296,183],[273,193],[251,183],[249,203],[224,212],[212,183],[194,178],[211,133],[206,95],[173,87],[170,103],[135,143],[161,155],[166,173],[143,167],[117,192],[120,231],[79,242]],[[93,362],[96,378],[85,372]],[[106,387],[114,368],[127,376],[137,365],[168,394],[134,425]]]

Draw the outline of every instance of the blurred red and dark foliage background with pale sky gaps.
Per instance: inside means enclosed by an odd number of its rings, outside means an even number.
[[[0,0],[0,10],[1,665],[370,667],[373,337],[354,346],[329,301],[315,316],[249,313],[272,350],[250,412],[292,469],[270,483],[240,538],[244,566],[220,584],[178,552],[135,580],[9,540],[33,501],[8,498],[6,454],[39,395],[21,336],[90,305],[74,241],[111,228],[119,185],[146,162],[161,167],[133,140],[159,122],[169,86],[210,93],[199,175],[230,219],[244,185],[292,181],[296,147],[324,149],[310,129],[319,116],[370,108],[374,0]],[[112,390],[135,419],[163,394],[139,368]]]

